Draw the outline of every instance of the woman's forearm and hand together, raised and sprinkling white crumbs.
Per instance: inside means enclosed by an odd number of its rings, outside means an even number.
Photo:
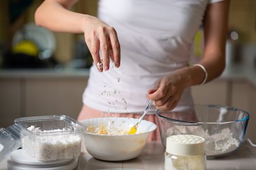
[[[109,69],[112,60],[120,65],[120,45],[117,32],[94,16],[70,11],[77,0],[45,0],[35,12],[38,26],[64,33],[84,33],[94,64],[100,72]],[[100,51],[102,58],[100,58]],[[101,61],[102,59],[102,61]]]

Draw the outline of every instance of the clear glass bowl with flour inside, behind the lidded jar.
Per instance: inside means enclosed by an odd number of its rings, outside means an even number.
[[[234,107],[193,105],[182,112],[156,111],[162,145],[169,135],[188,134],[205,138],[208,158],[227,156],[244,141],[250,115]]]

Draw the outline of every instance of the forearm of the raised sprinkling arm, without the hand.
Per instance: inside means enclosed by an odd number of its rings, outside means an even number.
[[[71,4],[72,5],[72,4]],[[92,16],[72,12],[58,1],[46,0],[35,12],[35,22],[38,26],[46,27],[52,31],[83,33],[85,22]]]

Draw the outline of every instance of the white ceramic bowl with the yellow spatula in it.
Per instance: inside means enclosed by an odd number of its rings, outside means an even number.
[[[104,124],[108,126],[112,122],[115,129],[129,131],[138,119],[134,118],[91,118],[81,120],[85,126],[96,126]],[[85,148],[91,156],[101,160],[119,161],[129,160],[141,154],[147,137],[156,129],[156,124],[142,120],[134,135],[99,135],[96,133],[83,133]]]

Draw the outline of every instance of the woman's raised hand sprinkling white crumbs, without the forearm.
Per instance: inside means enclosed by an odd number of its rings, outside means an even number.
[[[98,71],[108,70],[110,61],[114,62],[115,67],[119,67],[120,45],[117,32],[113,27],[94,16],[87,16],[84,33],[85,42]],[[102,53],[102,61],[100,60],[100,51]]]

